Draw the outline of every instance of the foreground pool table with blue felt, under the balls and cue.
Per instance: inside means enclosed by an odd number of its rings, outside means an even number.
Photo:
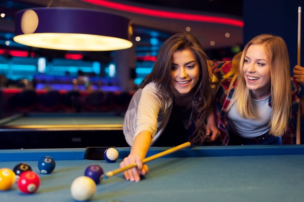
[[[74,202],[72,181],[88,165],[104,171],[119,167],[130,148],[117,148],[115,163],[84,159],[85,149],[23,149],[0,151],[0,168],[29,163],[33,171],[43,155],[56,168],[39,173],[41,185],[32,195],[17,186],[0,192],[1,202]],[[148,155],[167,150],[151,147]],[[97,186],[92,202],[302,202],[304,199],[304,145],[195,146],[148,162],[150,172],[140,182],[121,173]]]

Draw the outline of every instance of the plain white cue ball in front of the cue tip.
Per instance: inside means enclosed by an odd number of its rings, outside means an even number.
[[[77,201],[87,201],[96,192],[94,180],[87,176],[77,177],[71,185],[71,195]]]

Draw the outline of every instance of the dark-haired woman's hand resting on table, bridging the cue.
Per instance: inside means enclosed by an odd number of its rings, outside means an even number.
[[[123,161],[120,163],[120,168],[123,168],[133,163],[136,163],[137,167],[124,171],[123,174],[126,180],[139,182],[140,181],[139,175],[145,175],[146,173],[149,172],[148,166],[146,164],[142,164],[142,158],[139,155],[130,154],[127,157],[125,157]]]

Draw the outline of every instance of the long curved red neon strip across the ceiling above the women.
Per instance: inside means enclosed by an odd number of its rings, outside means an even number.
[[[136,14],[142,14],[146,16],[156,16],[164,17],[171,19],[180,19],[180,20],[190,20],[190,21],[199,21],[199,22],[210,22],[210,23],[219,23],[225,25],[233,25],[236,27],[244,27],[244,22],[242,20],[231,19],[227,17],[217,17],[217,16],[202,16],[202,15],[193,15],[169,11],[160,11],[148,8],[141,8],[137,6],[126,5],[122,3],[111,2],[107,0],[82,0],[88,3],[96,4],[99,6],[112,8],[120,11],[126,11]]]

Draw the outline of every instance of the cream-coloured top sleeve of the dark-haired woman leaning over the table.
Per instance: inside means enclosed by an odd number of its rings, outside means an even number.
[[[123,134],[127,143],[132,146],[134,138],[143,130],[152,135],[152,144],[166,128],[172,100],[160,99],[155,82],[147,84],[133,95],[124,117]]]

